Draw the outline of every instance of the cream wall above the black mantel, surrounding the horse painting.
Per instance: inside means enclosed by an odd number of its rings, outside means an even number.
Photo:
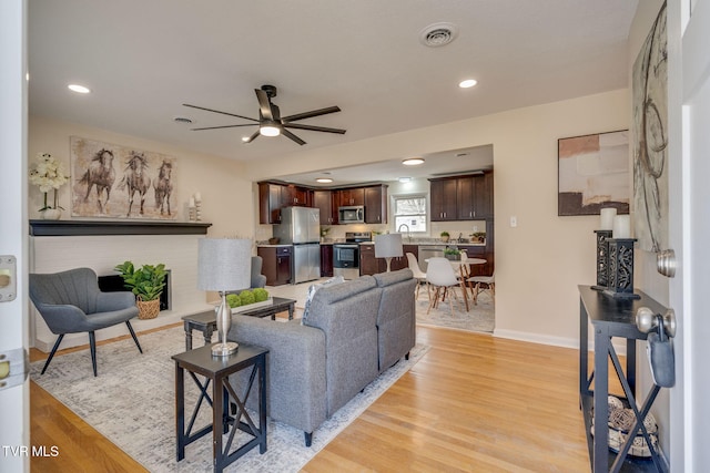
[[[77,125],[68,122],[51,121],[43,117],[30,117],[29,156],[32,165],[37,153],[50,153],[64,162],[64,168],[71,169],[69,137],[75,135],[122,146],[135,146],[138,150],[163,153],[178,158],[173,174],[178,192],[178,222],[187,222],[186,205],[195,192],[202,194],[202,220],[211,223],[209,236],[226,237],[254,236],[254,206],[252,205],[252,185],[244,177],[243,165],[236,161],[194,153],[165,143],[121,135],[100,128]],[[73,176],[77,178],[77,176]],[[70,186],[60,189],[60,205],[64,207],[62,218],[70,217]],[[112,197],[114,198],[114,197]],[[29,216],[39,218],[42,194],[37,186],[29,189]]]

